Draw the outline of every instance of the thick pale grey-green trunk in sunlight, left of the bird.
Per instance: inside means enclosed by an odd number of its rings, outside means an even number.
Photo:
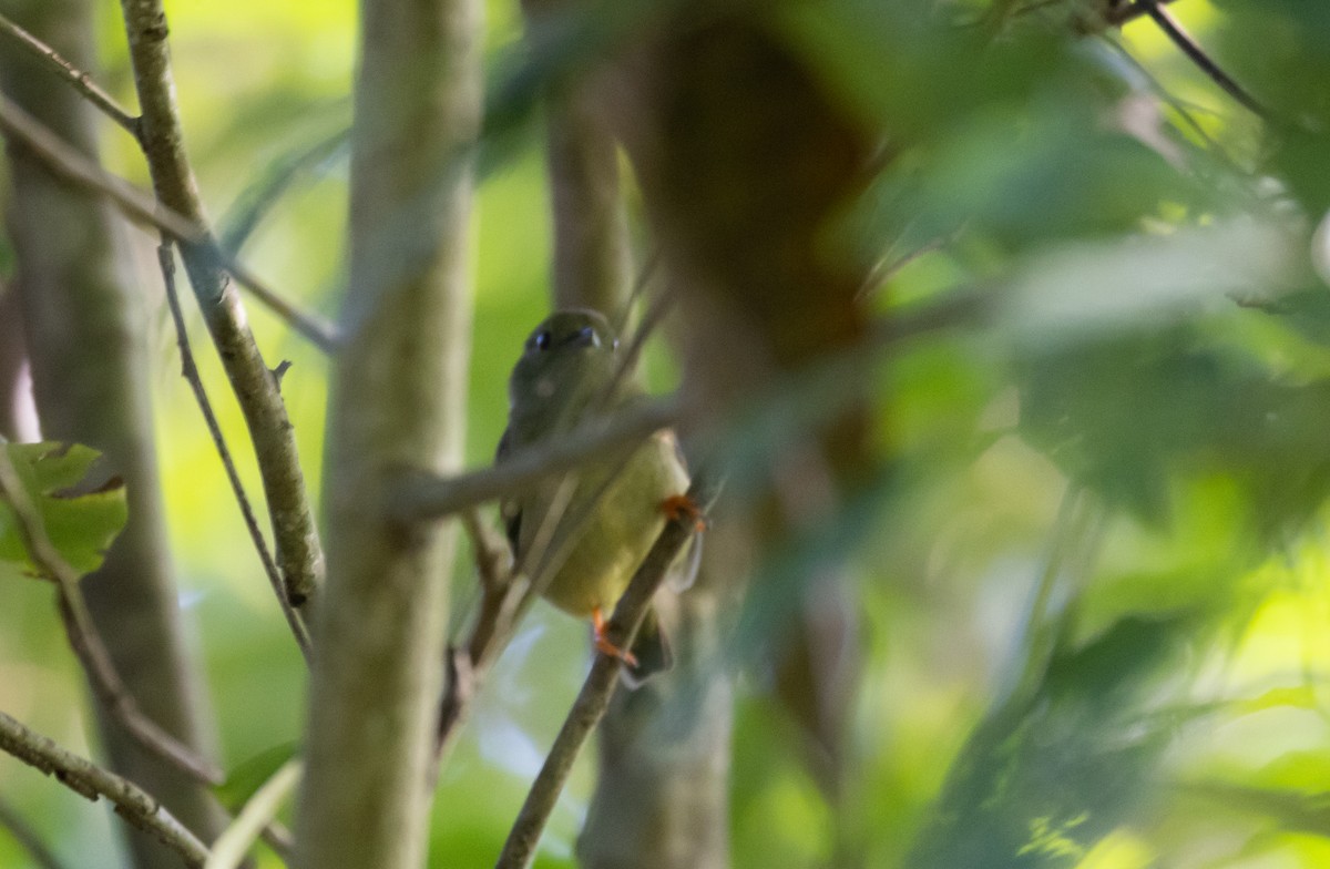
[[[403,526],[404,471],[456,471],[466,422],[477,0],[362,0],[351,279],[329,409],[297,865],[423,858],[455,526]]]

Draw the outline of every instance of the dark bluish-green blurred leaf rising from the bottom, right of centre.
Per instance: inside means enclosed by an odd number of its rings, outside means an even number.
[[[1172,729],[1142,700],[1189,621],[1123,619],[1055,652],[1029,696],[976,728],[910,866],[1073,866],[1148,804]]]

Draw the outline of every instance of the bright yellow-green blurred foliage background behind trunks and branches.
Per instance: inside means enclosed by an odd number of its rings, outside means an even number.
[[[1148,21],[1072,39],[1067,19],[1087,4],[1044,4],[994,36],[988,4],[926,5],[827,0],[773,15],[892,154],[847,216],[858,250],[892,263],[928,249],[872,303],[886,317],[960,287],[984,315],[875,363],[894,474],[846,508],[861,528],[849,536],[867,652],[853,775],[827,804],[762,667],[747,667],[734,865],[1325,865],[1330,254],[1314,232],[1330,206],[1330,7],[1173,4],[1281,120],[1262,132]],[[354,4],[168,11],[189,145],[225,232],[237,202],[347,124]],[[520,36],[515,4],[491,3],[487,32],[501,72]],[[104,79],[128,93],[113,4],[102,49]],[[492,455],[507,371],[547,303],[548,202],[528,126],[487,162],[475,221],[475,466]],[[112,168],[145,182],[109,126],[105,146]],[[344,176],[336,146],[303,161],[243,249],[329,318]],[[160,294],[146,257],[140,278]],[[317,486],[325,361],[249,310],[270,358],[293,362],[283,394]],[[221,757],[237,769],[298,739],[303,665],[158,318],[182,604]],[[198,343],[245,455],[239,413]],[[664,351],[652,374],[669,381]],[[459,613],[472,598],[462,566]],[[49,588],[5,576],[0,599],[0,708],[86,749]],[[539,608],[444,773],[434,865],[492,862],[584,667],[583,625]],[[70,865],[109,853],[102,806],[7,760],[0,792],[41,818]],[[537,865],[572,865],[588,794],[584,768]],[[0,836],[0,865],[21,861]]]

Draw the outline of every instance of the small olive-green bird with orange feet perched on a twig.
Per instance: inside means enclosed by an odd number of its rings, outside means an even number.
[[[496,462],[513,450],[567,435],[597,413],[640,399],[642,393],[630,378],[620,377],[620,365],[618,341],[600,313],[563,310],[540,323],[508,383],[508,430]],[[513,555],[535,582],[544,583],[541,594],[560,609],[591,619],[596,648],[621,657],[632,680],[670,667],[656,611],[648,612],[630,651],[605,639],[605,617],[666,516],[700,518],[684,495],[688,483],[674,435],[658,431],[626,463],[621,454],[593,460],[571,478],[552,476],[501,504]],[[568,528],[597,495],[580,527]],[[561,522],[565,518],[569,522]],[[543,560],[549,563],[541,566]]]

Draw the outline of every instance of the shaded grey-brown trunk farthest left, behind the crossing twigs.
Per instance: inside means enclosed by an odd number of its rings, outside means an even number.
[[[86,0],[8,0],[0,8],[73,64],[94,67]],[[96,114],[68,85],[12,53],[3,76],[28,112],[97,157]],[[43,435],[105,451],[108,474],[125,479],[129,496],[129,524],[84,580],[88,603],[141,709],[206,751],[209,716],[181,637],[166,551],[142,291],[126,277],[117,218],[97,198],[52,178],[21,146],[9,145],[9,160],[8,225]],[[202,838],[218,832],[221,816],[205,788],[146,755],[105,716],[101,732],[118,772]],[[138,866],[180,866],[177,854],[142,833],[130,833],[130,844]]]

